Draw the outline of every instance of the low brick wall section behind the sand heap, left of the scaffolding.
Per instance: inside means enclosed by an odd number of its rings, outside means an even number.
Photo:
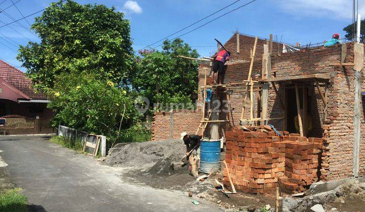
[[[179,110],[156,112],[152,123],[152,140],[180,139],[180,133],[196,133],[201,120],[201,112]],[[171,128],[172,127],[172,128]]]

